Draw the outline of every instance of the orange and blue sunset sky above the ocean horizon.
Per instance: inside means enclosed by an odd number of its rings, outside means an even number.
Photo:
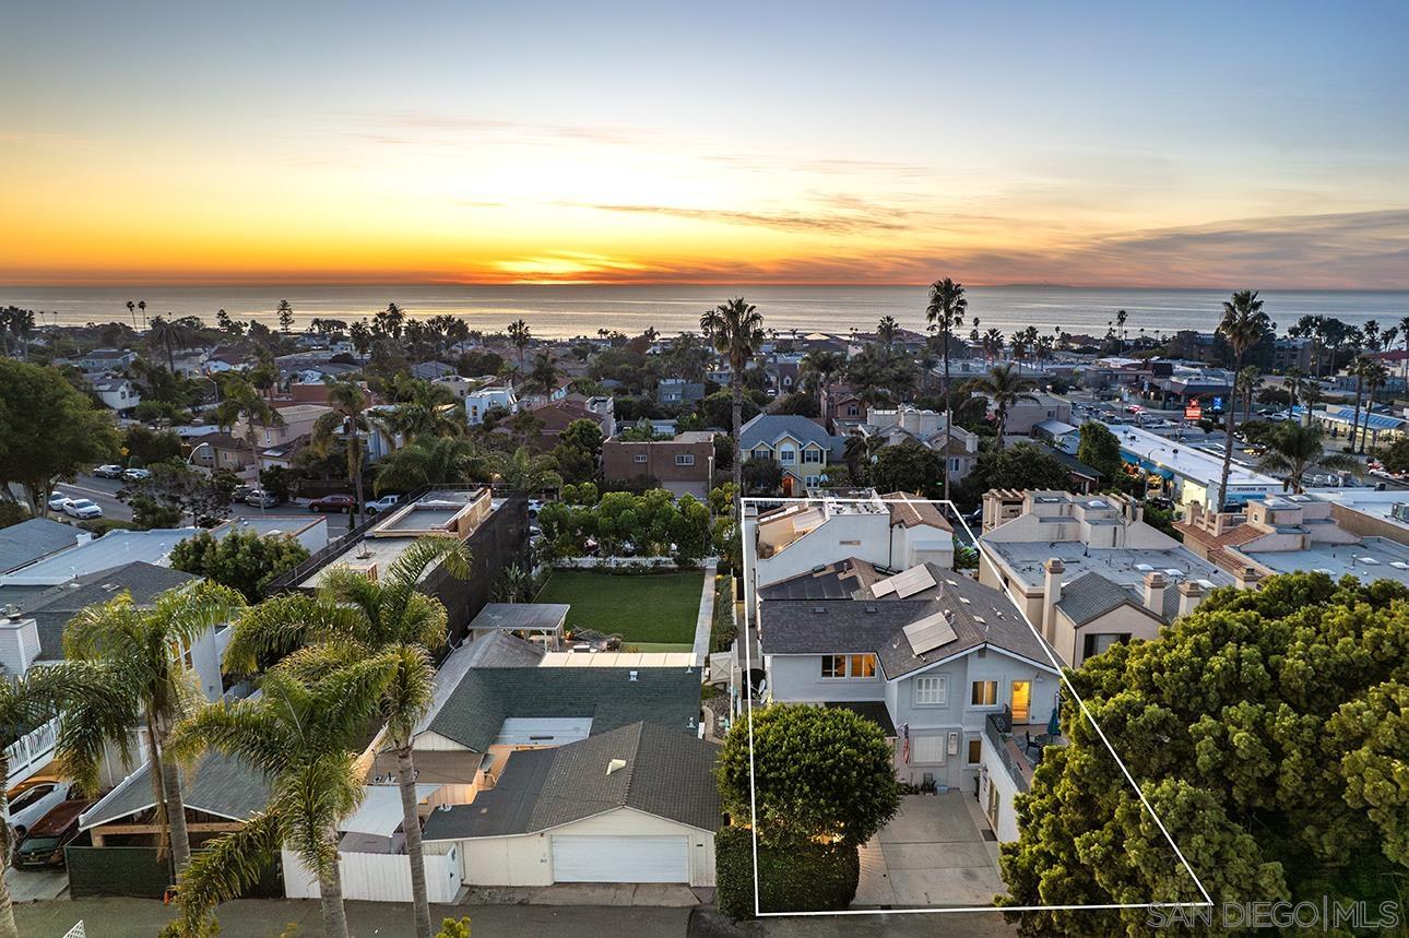
[[[1406,48],[1405,3],[11,6],[0,283],[1409,287]]]

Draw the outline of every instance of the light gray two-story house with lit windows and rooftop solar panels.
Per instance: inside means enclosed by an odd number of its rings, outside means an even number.
[[[976,793],[992,714],[1044,727],[1057,703],[1050,649],[999,590],[923,563],[848,561],[761,592],[768,693],[875,720],[913,784]]]

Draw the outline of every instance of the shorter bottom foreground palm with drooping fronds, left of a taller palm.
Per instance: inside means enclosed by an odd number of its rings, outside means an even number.
[[[180,934],[210,934],[211,910],[258,882],[283,846],[318,877],[324,937],[348,938],[338,824],[362,801],[355,749],[393,668],[390,656],[378,655],[317,682],[276,668],[265,675],[258,697],[210,704],[176,727],[175,755],[218,752],[261,772],[271,789],[263,811],[209,842],[178,879]]]

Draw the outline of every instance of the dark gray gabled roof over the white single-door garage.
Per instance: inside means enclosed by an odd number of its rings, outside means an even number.
[[[433,811],[426,839],[531,834],[619,807],[714,831],[719,746],[650,723],[509,758],[497,784],[472,804]],[[626,765],[609,773],[613,759]]]

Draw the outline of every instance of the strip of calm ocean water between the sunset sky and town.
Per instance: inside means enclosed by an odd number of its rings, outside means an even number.
[[[664,334],[699,330],[700,313],[735,294],[758,306],[768,328],[779,334],[874,330],[883,315],[903,327],[924,328],[921,286],[269,286],[269,287],[7,287],[0,307],[44,313],[44,323],[83,324],[128,320],[127,300],[145,300],[147,315],[199,315],[214,321],[224,308],[237,318],[275,320],[279,300],[289,300],[294,324],[313,317],[354,320],[396,303],[409,315],[454,314],[471,328],[503,330],[523,318],[534,335],[569,338],[596,335],[599,328],[638,334],[648,327]],[[1116,310],[1129,314],[1127,335],[1165,335],[1177,330],[1217,325],[1227,290],[1154,290],[1123,287],[1000,286],[968,290],[969,317],[979,328],[1005,332],[1036,325],[1050,331],[1100,335]],[[1265,311],[1285,331],[1303,314],[1334,315],[1358,325],[1378,320],[1388,327],[1409,317],[1409,292],[1265,290]],[[138,314],[141,320],[141,314]],[[965,327],[968,331],[968,327]]]

